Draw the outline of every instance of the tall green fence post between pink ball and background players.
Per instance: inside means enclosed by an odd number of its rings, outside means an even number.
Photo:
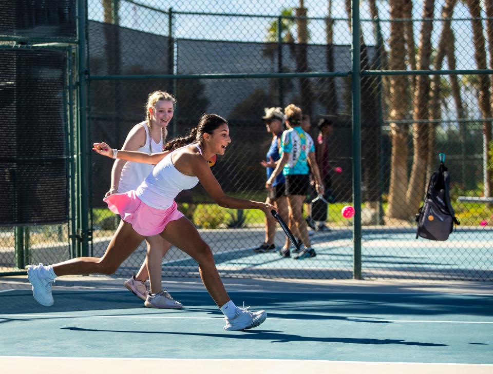
[[[359,0],[351,1],[352,138],[353,138],[353,278],[361,278],[361,67]]]

